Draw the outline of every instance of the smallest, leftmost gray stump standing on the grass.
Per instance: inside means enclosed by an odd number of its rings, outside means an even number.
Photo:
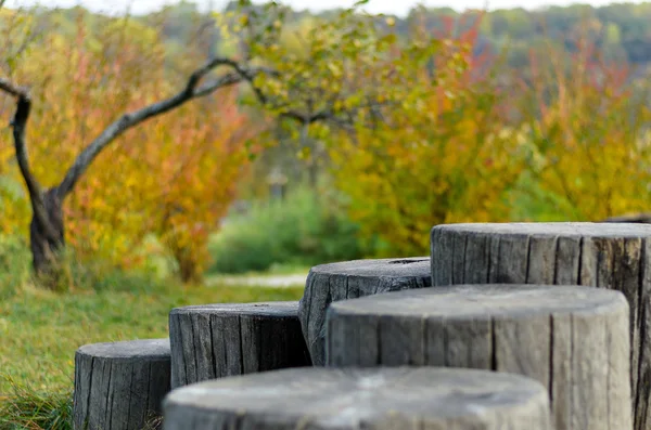
[[[170,390],[169,340],[93,343],[75,354],[77,430],[141,430]]]

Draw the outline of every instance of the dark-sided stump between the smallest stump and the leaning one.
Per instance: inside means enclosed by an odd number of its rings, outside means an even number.
[[[309,366],[298,302],[184,307],[169,313],[171,387]]]

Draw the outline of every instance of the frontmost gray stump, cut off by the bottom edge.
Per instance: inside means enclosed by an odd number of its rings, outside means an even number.
[[[473,369],[311,367],[173,391],[165,430],[548,430],[547,391]]]

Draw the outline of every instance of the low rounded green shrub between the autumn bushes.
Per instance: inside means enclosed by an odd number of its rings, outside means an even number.
[[[273,264],[314,265],[372,253],[341,195],[297,188],[284,200],[257,201],[232,217],[210,243],[210,272],[264,271]]]

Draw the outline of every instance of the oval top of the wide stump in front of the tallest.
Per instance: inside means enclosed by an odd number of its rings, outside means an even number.
[[[628,307],[616,290],[580,286],[518,284],[455,285],[386,292],[331,304],[333,312],[408,317],[486,318],[609,312]]]

